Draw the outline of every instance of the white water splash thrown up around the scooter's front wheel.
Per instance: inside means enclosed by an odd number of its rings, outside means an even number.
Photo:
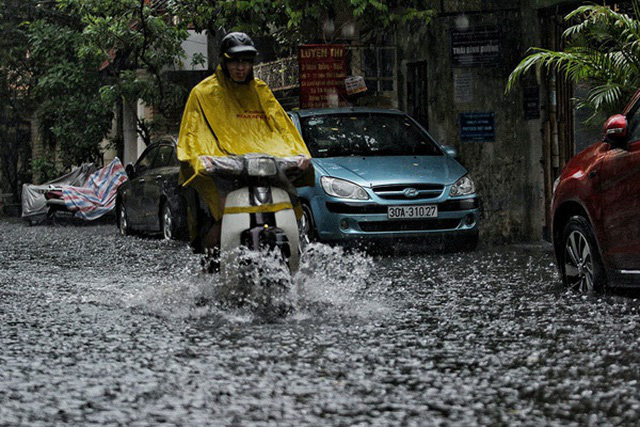
[[[383,293],[391,280],[363,252],[314,243],[291,277],[269,252],[234,254],[233,268],[202,273],[197,262],[155,280],[122,287],[126,306],[167,318],[224,317],[226,321],[369,317],[388,310]]]

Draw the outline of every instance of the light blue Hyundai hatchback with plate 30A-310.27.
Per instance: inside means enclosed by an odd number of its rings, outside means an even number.
[[[298,189],[303,236],[323,242],[478,244],[480,200],[468,171],[415,120],[370,108],[289,113],[313,157]],[[433,239],[431,239],[433,238]]]

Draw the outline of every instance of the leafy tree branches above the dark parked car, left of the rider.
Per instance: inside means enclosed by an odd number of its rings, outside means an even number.
[[[149,0],[57,0],[65,13],[82,22],[78,56],[96,62],[102,100],[138,99],[158,113],[155,123],[139,121],[149,143],[154,125],[183,102],[184,89],[167,78],[167,70],[184,57],[186,24],[173,22],[171,2]]]

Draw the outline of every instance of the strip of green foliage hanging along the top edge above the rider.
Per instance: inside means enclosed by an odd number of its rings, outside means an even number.
[[[428,0],[175,1],[177,13],[197,29],[268,36],[281,53],[292,51],[301,43],[341,38],[344,27],[332,26],[336,18],[356,24],[364,42],[397,26],[424,26],[433,17],[431,3]],[[319,37],[324,40],[318,40]]]

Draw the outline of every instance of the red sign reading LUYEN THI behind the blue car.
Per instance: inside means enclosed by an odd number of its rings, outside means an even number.
[[[299,47],[300,108],[348,105],[345,45],[318,44]]]

